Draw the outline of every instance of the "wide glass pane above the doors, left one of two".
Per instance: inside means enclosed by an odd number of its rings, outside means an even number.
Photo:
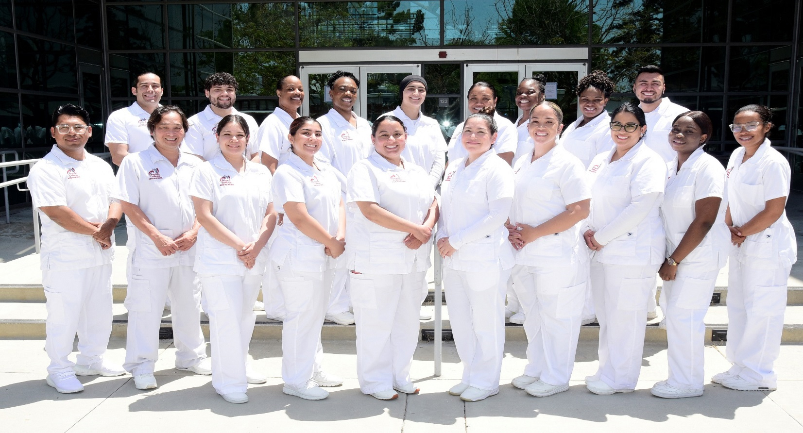
[[[397,47],[440,43],[440,2],[301,2],[301,47]]]

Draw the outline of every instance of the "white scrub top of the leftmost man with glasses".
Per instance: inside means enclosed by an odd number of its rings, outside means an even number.
[[[28,174],[34,208],[67,206],[91,223],[108,220],[114,184],[112,167],[106,161],[86,151],[84,160],[74,160],[55,144]],[[85,269],[112,263],[114,233],[112,248],[104,250],[92,236],[64,229],[41,210],[39,216],[42,218],[43,270]]]

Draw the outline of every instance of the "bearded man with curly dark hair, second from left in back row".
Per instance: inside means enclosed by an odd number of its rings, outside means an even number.
[[[208,161],[214,158],[215,155],[220,153],[220,146],[218,146],[218,139],[215,136],[218,122],[223,116],[226,115],[242,115],[248,123],[248,129],[251,132],[251,137],[248,140],[246,148],[246,158],[249,160],[251,156],[259,152],[256,148],[255,134],[259,129],[259,123],[245,113],[241,113],[234,109],[234,101],[237,100],[237,79],[226,72],[215,72],[206,78],[204,82],[204,93],[209,98],[209,105],[206,106],[204,111],[193,115],[188,119],[190,121],[190,130],[181,144],[181,151],[192,153],[202,160]]]

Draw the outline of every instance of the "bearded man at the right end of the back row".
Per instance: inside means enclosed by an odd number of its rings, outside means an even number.
[[[671,102],[669,98],[662,98],[666,92],[663,71],[654,65],[638,68],[633,91],[640,102],[638,107],[641,107],[647,119],[644,143],[666,162],[674,160],[677,152],[669,145],[669,130],[675,117],[689,109]]]

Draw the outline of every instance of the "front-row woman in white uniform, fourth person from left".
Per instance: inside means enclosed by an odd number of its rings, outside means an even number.
[[[337,257],[345,248],[345,210],[336,169],[315,159],[320,123],[302,116],[290,124],[292,146],[276,169],[273,196],[284,222],[271,245],[271,266],[279,279],[287,315],[282,328],[283,392],[301,399],[325,399],[320,386],[343,379],[321,370],[324,325]]]

